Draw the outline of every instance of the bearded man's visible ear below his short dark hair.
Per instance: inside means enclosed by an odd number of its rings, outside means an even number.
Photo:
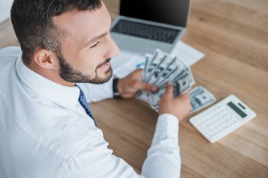
[[[37,65],[46,69],[57,70],[59,68],[59,60],[56,53],[47,49],[38,49],[33,55],[33,59]]]

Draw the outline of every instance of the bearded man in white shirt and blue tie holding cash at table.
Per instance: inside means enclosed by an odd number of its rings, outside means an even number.
[[[123,98],[157,90],[141,70],[111,78],[119,51],[101,1],[15,0],[11,20],[21,49],[0,51],[0,177],[179,177],[188,94],[166,88],[141,175],[107,148],[87,106],[113,97],[113,84]]]

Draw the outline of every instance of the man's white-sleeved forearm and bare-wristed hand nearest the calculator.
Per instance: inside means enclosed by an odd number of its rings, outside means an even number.
[[[181,156],[178,146],[178,122],[191,110],[189,94],[173,97],[173,85],[166,87],[159,103],[159,117],[152,145],[142,165],[145,177],[180,177]]]

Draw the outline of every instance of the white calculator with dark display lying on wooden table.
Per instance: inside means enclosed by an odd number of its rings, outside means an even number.
[[[214,143],[255,116],[253,110],[231,94],[202,113],[191,117],[190,122],[206,139]]]

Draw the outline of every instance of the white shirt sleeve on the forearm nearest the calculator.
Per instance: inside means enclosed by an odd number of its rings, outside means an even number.
[[[157,120],[152,145],[142,165],[142,175],[148,178],[178,178],[180,174],[178,119],[174,115],[162,114]]]

